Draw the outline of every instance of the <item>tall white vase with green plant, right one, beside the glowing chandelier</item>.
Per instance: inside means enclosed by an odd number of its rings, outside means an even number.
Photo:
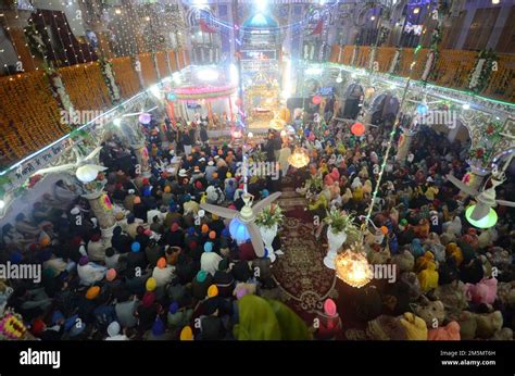
[[[331,209],[327,212],[324,222],[329,226],[327,228],[327,241],[329,249],[324,258],[324,265],[328,268],[335,268],[335,259],[340,247],[347,240],[347,230],[355,227],[354,216],[348,214],[346,211]]]

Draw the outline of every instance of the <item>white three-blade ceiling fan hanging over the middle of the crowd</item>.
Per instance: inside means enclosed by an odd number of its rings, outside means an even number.
[[[252,242],[252,247],[254,248],[254,252],[259,258],[263,258],[265,255],[265,248],[263,245],[263,238],[261,237],[260,228],[254,223],[255,216],[267,205],[272,202],[277,200],[280,197],[281,192],[275,192],[271,196],[266,197],[265,199],[259,201],[253,205],[254,197],[248,192],[243,193],[242,200],[244,202],[244,206],[241,208],[240,211],[213,205],[210,203],[201,203],[200,208],[216,214],[221,217],[227,220],[238,220],[247,227],[247,230],[250,235],[250,240]]]

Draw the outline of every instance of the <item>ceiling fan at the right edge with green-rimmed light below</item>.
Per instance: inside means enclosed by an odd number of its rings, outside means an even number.
[[[511,159],[510,159],[511,160]],[[504,165],[504,168],[510,165],[506,163]],[[504,171],[499,171],[497,167],[492,171],[492,175],[489,180],[491,180],[492,186],[488,189],[485,189],[488,180],[482,186],[482,189],[480,191],[467,186],[465,183],[456,178],[454,175],[447,175],[447,178],[449,181],[451,181],[453,185],[455,185],[457,188],[460,188],[462,191],[465,193],[470,195],[474,197],[474,200],[477,202],[475,205],[474,210],[472,211],[469,217],[473,221],[480,221],[485,218],[487,215],[489,215],[490,210],[498,204],[502,206],[511,206],[515,208],[515,202],[513,201],[505,201],[505,200],[497,200],[495,199],[495,188],[500,186],[501,184],[504,183],[506,179],[506,176],[504,174]]]

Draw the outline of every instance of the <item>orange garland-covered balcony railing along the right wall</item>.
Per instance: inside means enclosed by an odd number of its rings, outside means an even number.
[[[378,71],[388,73],[395,55],[394,47],[378,47],[374,61],[378,63]],[[399,65],[395,75],[407,77],[410,65],[413,62],[414,49],[400,49]],[[354,46],[332,46],[330,61],[351,65],[354,55],[353,66],[368,68],[372,48],[360,46],[354,51]],[[417,53],[416,64],[412,73],[412,78],[420,79],[428,50],[422,49]],[[468,90],[470,73],[476,65],[477,52],[462,50],[441,50],[429,77],[431,84],[451,87],[460,90]],[[497,71],[490,74],[486,87],[479,95],[497,100],[515,102],[515,55],[498,54]]]

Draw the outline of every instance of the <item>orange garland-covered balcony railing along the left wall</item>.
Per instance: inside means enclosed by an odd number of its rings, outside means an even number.
[[[150,53],[142,53],[138,60],[143,85],[150,86],[159,76],[164,78],[187,66],[189,54],[158,52],[154,63]],[[121,100],[142,89],[130,58],[114,58],[111,62]],[[113,106],[99,62],[62,67],[58,73],[75,110],[103,111]],[[60,110],[43,71],[0,77],[0,171],[70,133]]]

